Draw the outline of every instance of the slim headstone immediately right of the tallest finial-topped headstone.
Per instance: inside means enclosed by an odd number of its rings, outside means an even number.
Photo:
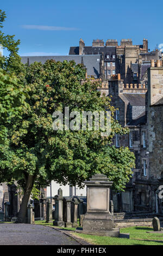
[[[72,198],[70,198],[70,197],[64,198],[64,222],[65,222],[66,228],[72,227],[71,203],[72,203]]]

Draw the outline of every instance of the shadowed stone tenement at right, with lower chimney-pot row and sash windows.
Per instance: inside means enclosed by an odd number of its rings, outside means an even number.
[[[126,86],[120,75],[109,82],[111,104],[115,118],[129,127],[128,135],[116,135],[113,144],[129,147],[136,157],[136,168],[126,191],[113,195],[115,211],[148,211],[163,214],[163,67],[160,60],[151,60],[146,86]]]

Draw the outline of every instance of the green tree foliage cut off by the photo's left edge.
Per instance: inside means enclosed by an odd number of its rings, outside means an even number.
[[[0,10],[1,29],[5,17],[4,11]],[[0,31],[0,44],[9,51],[9,57],[0,57],[0,143],[4,143],[8,131],[6,124],[11,118],[21,117],[22,106],[26,105],[26,94],[21,82],[24,67],[17,54],[20,40],[16,41],[14,35],[4,35]],[[15,75],[19,75],[19,78]]]

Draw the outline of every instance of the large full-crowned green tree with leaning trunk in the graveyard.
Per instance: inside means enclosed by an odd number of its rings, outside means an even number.
[[[135,157],[128,148],[112,147],[115,133],[128,133],[113,118],[109,97],[97,91],[98,82],[87,79],[82,64],[48,60],[34,63],[24,72],[24,93],[28,93],[22,120],[13,120],[7,145],[1,145],[0,181],[17,180],[23,187],[18,222],[24,222],[33,185],[43,187],[55,180],[62,185],[83,185],[92,174],[104,173],[123,190],[132,174]],[[70,112],[111,111],[111,133],[57,130],[52,128],[53,112],[69,107]]]

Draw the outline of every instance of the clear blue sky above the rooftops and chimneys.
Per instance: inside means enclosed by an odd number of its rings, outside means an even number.
[[[153,50],[163,43],[163,2],[96,0],[6,0],[1,2],[7,19],[3,32],[21,40],[19,54],[67,55],[70,46],[82,38],[86,46],[93,39],[148,39]]]

